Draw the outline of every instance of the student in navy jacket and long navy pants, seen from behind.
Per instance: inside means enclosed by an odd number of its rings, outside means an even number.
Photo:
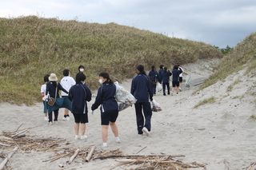
[[[137,99],[135,103],[135,112],[138,136],[142,136],[143,132],[146,133],[146,136],[150,136],[152,117],[150,101],[153,101],[152,85],[150,78],[146,76],[143,65],[137,66],[136,73],[138,73],[138,75],[134,77],[131,82],[130,93]]]

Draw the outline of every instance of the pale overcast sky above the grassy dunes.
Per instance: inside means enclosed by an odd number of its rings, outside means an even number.
[[[115,22],[169,37],[234,47],[256,32],[255,0],[0,0],[0,18],[37,15]]]

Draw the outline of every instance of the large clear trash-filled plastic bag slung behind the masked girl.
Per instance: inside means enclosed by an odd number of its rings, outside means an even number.
[[[114,82],[114,85],[117,87],[115,93],[115,100],[118,101],[119,111],[122,111],[128,108],[137,101],[135,97],[121,85],[118,84],[118,81]]]

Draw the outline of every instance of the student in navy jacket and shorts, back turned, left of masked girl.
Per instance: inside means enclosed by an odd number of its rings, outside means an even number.
[[[90,89],[85,85],[86,75],[77,73],[75,76],[76,84],[70,88],[69,99],[72,101],[72,113],[74,116],[74,139],[79,139],[79,128],[81,140],[87,140],[86,123],[88,123],[87,101],[91,100]]]

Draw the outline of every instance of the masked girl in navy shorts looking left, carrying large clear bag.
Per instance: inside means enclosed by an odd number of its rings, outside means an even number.
[[[116,86],[111,81],[108,73],[99,74],[99,82],[102,86],[98,89],[98,94],[94,105],[91,106],[91,113],[101,105],[101,120],[102,120],[102,147],[107,147],[108,128],[114,133],[115,141],[120,143],[118,136],[118,126],[115,121],[118,118],[118,102],[115,100]]]

